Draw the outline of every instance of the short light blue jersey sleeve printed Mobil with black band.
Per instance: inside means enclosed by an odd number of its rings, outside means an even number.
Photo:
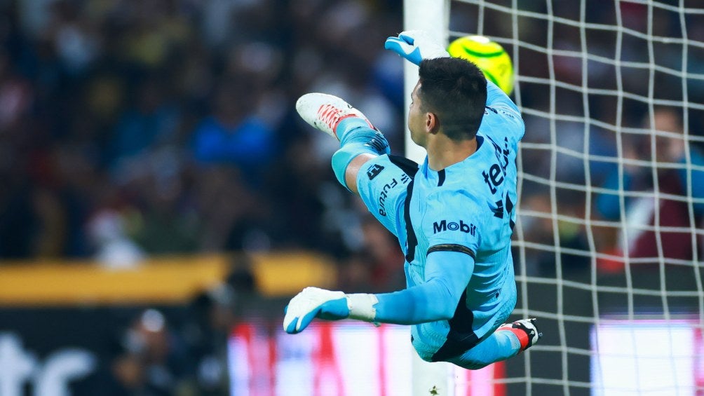
[[[427,254],[437,251],[459,252],[475,257],[482,243],[482,224],[487,207],[463,191],[441,191],[429,197],[422,219],[428,236]],[[485,205],[486,206],[486,205]]]

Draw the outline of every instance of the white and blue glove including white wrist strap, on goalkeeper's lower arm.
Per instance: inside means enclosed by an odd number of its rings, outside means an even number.
[[[373,294],[349,294],[321,288],[304,288],[287,305],[284,331],[296,334],[303,331],[313,318],[325,320],[358,319],[374,321],[378,302]]]

